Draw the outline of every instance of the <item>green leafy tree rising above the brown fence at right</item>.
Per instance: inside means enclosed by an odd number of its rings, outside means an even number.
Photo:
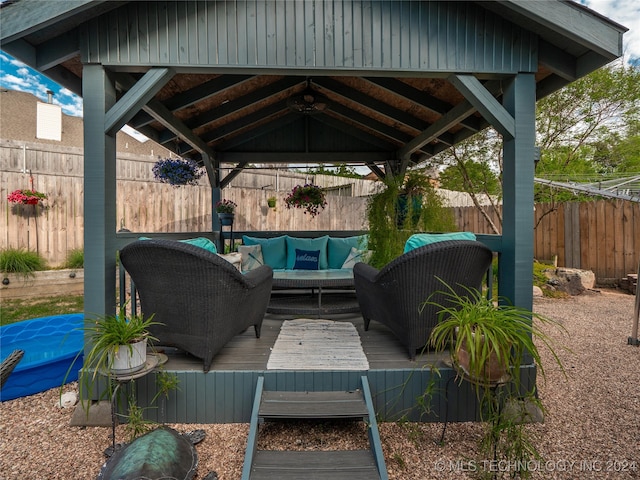
[[[615,62],[592,72],[540,100],[536,122],[536,176],[595,182],[640,171],[640,68]],[[443,187],[469,192],[482,210],[478,194],[495,194],[489,174],[502,177],[502,140],[487,129],[432,161],[445,167]],[[576,198],[586,196],[536,185],[537,201]]]

